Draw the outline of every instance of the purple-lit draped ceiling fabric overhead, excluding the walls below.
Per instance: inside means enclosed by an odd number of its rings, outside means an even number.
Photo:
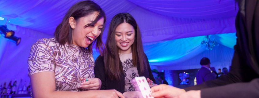
[[[80,0],[1,0],[0,16],[5,20],[1,20],[0,25],[7,22],[52,35],[66,11],[78,1]],[[107,15],[104,40],[112,17],[122,12],[134,16],[142,31],[143,42],[235,32],[234,18],[238,10],[235,10],[234,0],[93,1]]]

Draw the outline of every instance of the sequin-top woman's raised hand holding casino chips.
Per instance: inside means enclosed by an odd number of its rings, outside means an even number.
[[[83,78],[80,78],[82,81]],[[82,82],[79,88],[87,90],[100,90],[101,89],[101,80],[99,78],[88,78],[88,81]]]

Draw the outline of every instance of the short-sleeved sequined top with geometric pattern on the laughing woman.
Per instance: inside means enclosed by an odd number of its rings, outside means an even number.
[[[56,91],[85,91],[79,78],[94,78],[93,55],[77,45],[61,45],[55,38],[34,43],[28,59],[29,76],[39,72],[55,73]]]

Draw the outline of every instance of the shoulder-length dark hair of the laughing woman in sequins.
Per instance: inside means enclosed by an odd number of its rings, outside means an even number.
[[[62,22],[56,27],[54,36],[55,39],[62,45],[65,43],[68,43],[69,45],[73,44],[73,38],[72,38],[72,28],[70,27],[69,24],[69,18],[74,17],[74,19],[77,21],[81,17],[85,17],[89,14],[92,14],[93,12],[99,12],[98,16],[96,19],[91,23],[88,24],[94,25],[101,17],[104,18],[104,24],[106,21],[106,16],[104,11],[101,9],[99,5],[94,3],[93,1],[87,0],[87,1],[81,1],[76,4],[74,4],[66,13],[64,16]],[[88,47],[88,51],[92,53],[92,45],[96,42],[96,49],[99,49],[99,52],[103,54],[102,52],[104,51],[104,44],[101,40],[103,34],[103,29],[101,31],[101,34],[92,42]]]

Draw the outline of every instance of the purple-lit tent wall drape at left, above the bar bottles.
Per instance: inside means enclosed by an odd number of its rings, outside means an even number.
[[[29,84],[28,64],[27,60],[31,50],[31,46],[40,38],[51,38],[53,36],[34,31],[28,28],[12,25],[15,36],[21,37],[21,43],[16,45],[4,38],[0,37],[0,83],[9,83],[17,79],[17,85],[20,79],[27,81]]]

